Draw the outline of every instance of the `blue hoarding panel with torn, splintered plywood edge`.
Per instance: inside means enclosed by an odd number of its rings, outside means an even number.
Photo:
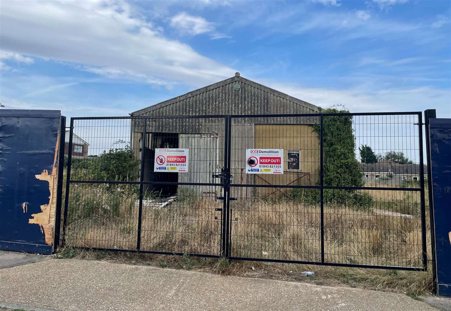
[[[41,206],[50,209],[59,128],[60,111],[0,110],[1,249],[52,252]]]

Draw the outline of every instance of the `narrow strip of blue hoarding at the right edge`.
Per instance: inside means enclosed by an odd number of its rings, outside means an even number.
[[[451,296],[451,119],[430,119],[437,293]]]

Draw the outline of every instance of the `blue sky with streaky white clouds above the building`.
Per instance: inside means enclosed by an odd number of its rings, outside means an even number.
[[[451,116],[451,2],[0,2],[0,102],[116,116],[245,78],[352,112]]]

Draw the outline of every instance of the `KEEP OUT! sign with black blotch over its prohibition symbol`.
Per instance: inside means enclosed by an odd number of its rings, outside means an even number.
[[[246,174],[283,174],[283,149],[246,149]]]

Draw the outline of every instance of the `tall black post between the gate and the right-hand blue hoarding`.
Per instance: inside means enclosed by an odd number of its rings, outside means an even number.
[[[429,119],[431,118],[437,118],[436,110],[435,109],[424,110],[424,132],[426,134],[426,163],[428,164],[428,197],[429,197],[429,221],[431,225],[431,254],[432,254],[431,261],[432,261],[433,293],[434,295],[437,295],[434,201],[432,195],[433,189],[432,189],[431,142],[429,136]]]

